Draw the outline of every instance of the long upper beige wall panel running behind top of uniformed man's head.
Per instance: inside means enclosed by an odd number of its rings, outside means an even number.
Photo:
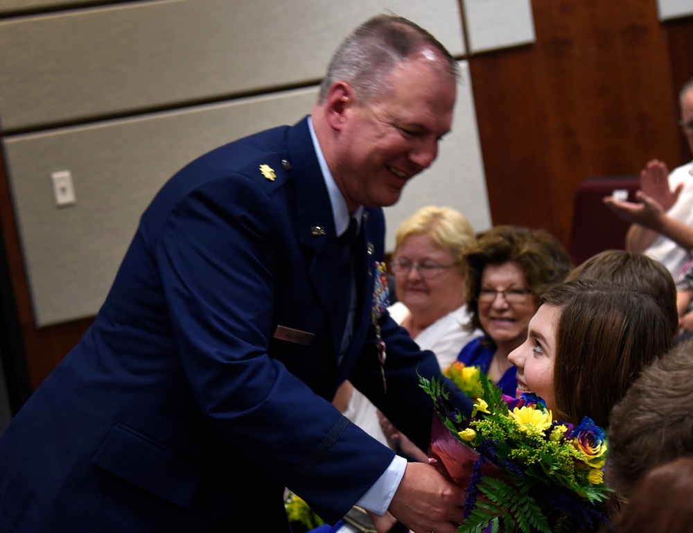
[[[5,19],[0,120],[40,128],[319,80],[342,37],[385,10],[464,51],[457,0],[167,0]]]

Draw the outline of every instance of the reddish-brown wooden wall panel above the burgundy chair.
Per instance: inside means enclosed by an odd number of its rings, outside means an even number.
[[[577,186],[678,153],[665,28],[644,0],[534,0],[536,43],[470,58],[493,222],[568,245]]]

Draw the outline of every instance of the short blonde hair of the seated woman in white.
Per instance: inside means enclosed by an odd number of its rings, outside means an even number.
[[[429,205],[421,207],[399,225],[395,234],[395,246],[399,248],[405,239],[414,235],[427,235],[431,240],[462,265],[465,248],[475,239],[472,225],[459,211],[451,207]]]

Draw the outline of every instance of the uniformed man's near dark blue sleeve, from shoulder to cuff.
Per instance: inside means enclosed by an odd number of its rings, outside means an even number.
[[[268,353],[286,221],[252,180],[209,180],[168,213],[155,261],[200,410],[243,457],[336,521],[394,453]],[[358,468],[354,468],[358,465]]]

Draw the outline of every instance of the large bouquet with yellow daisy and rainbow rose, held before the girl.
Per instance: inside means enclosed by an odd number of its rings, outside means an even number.
[[[606,523],[607,442],[591,419],[577,428],[554,421],[538,396],[505,396],[484,374],[471,418],[463,419],[440,378],[419,381],[439,414],[429,462],[466,487],[458,533],[594,531]]]

